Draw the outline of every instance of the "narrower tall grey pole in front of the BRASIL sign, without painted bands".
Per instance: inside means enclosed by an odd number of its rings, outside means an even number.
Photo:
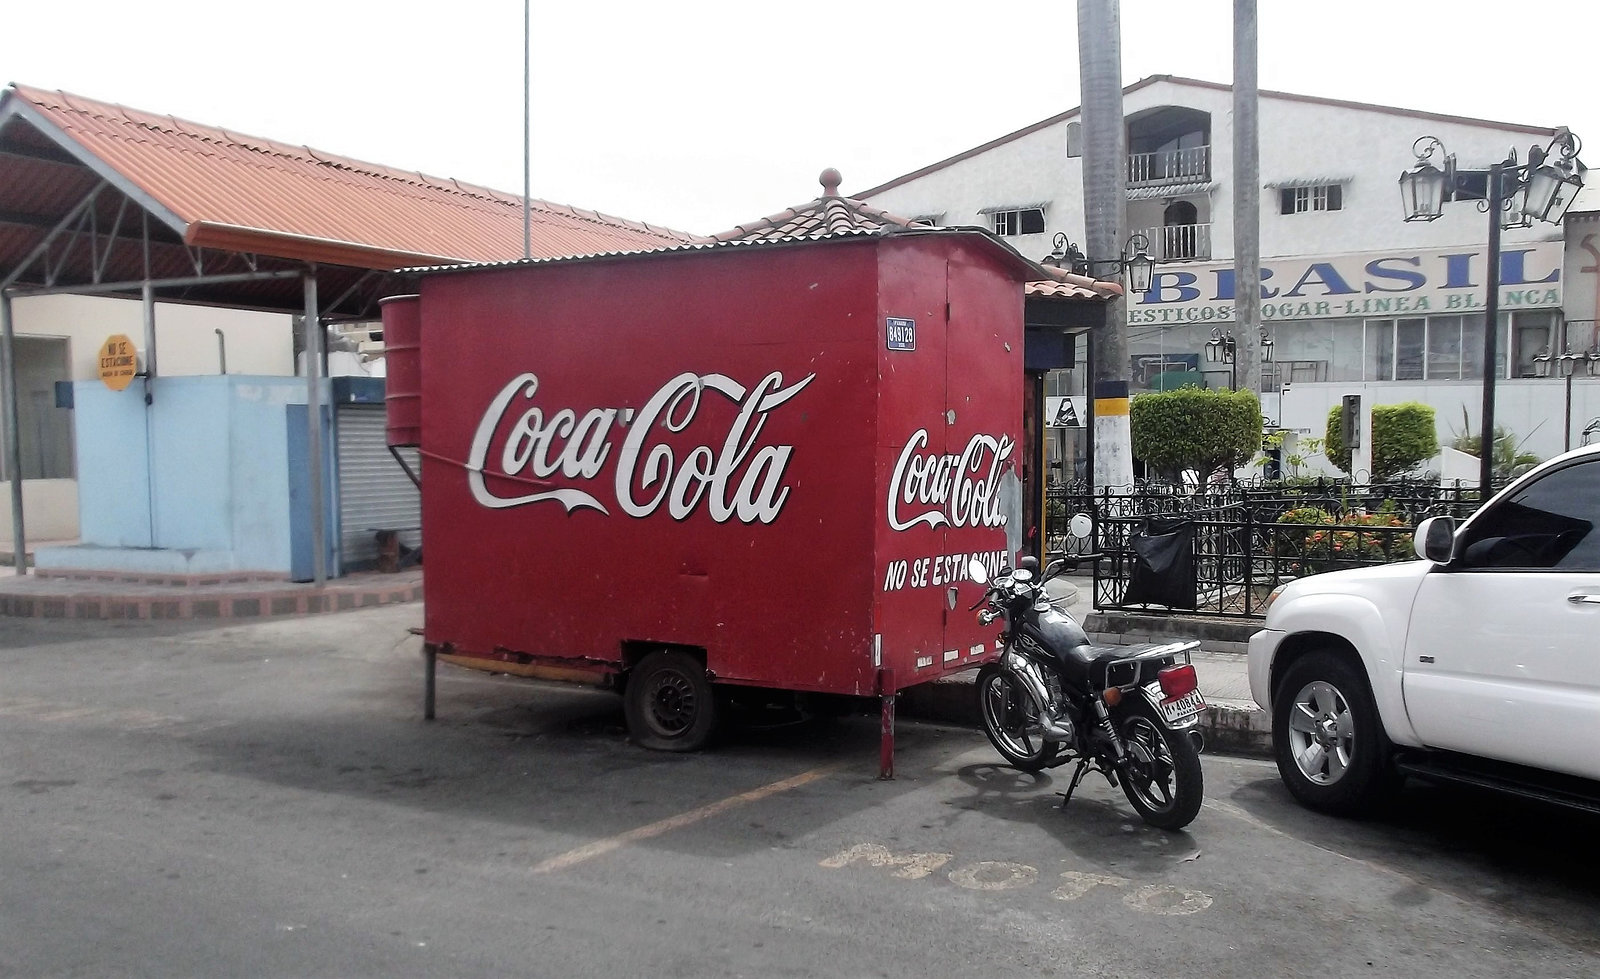
[[[1234,0],[1234,365],[1243,389],[1259,398],[1261,138],[1256,104],[1256,0]]]

